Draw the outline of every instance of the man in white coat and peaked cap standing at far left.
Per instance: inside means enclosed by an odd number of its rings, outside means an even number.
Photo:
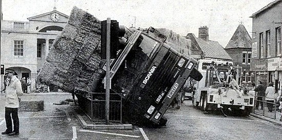
[[[19,120],[18,120],[18,107],[23,95],[21,81],[14,75],[14,70],[6,70],[7,77],[10,78],[10,82],[6,87],[5,95],[5,120],[6,120],[6,131],[2,134],[18,135],[19,134]],[[12,117],[11,117],[12,114]],[[14,124],[14,130],[12,128],[12,119]]]

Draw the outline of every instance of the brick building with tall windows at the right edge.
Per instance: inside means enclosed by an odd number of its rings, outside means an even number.
[[[255,82],[274,83],[278,90],[282,80],[281,25],[282,0],[276,0],[250,16],[252,22],[252,62]]]

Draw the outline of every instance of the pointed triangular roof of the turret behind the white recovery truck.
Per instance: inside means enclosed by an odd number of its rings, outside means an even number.
[[[244,25],[239,25],[225,49],[252,48],[252,38]]]

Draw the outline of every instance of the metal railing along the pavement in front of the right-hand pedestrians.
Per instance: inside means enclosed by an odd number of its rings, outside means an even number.
[[[276,106],[277,99],[269,98],[265,96],[257,96],[255,95],[255,104],[253,108],[253,112],[255,114],[263,115],[266,117],[270,117],[276,119],[276,114],[278,113]]]

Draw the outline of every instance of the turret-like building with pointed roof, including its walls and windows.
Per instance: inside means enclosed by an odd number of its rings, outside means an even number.
[[[252,57],[252,38],[244,25],[239,25],[225,47],[225,51],[233,59],[234,66],[241,67],[240,83],[254,83],[254,73],[250,72]]]

